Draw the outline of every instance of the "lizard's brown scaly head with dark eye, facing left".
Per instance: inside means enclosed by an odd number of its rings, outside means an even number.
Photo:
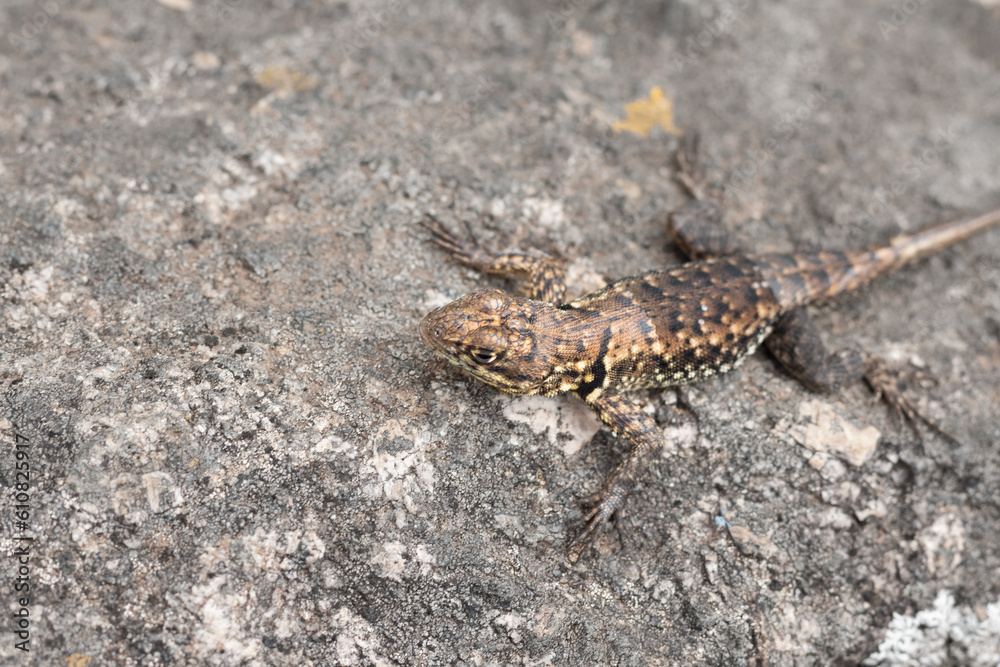
[[[420,336],[436,355],[489,385],[511,394],[550,394],[558,390],[543,323],[557,313],[541,301],[480,290],[429,313]]]

